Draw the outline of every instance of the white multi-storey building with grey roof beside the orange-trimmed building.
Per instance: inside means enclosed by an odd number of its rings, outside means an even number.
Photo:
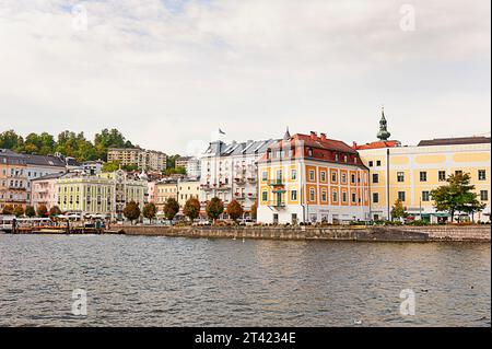
[[[257,161],[277,140],[247,142],[233,141],[226,144],[214,141],[203,153],[200,176],[200,201],[204,205],[213,197],[226,206],[233,199],[248,212],[257,200]]]

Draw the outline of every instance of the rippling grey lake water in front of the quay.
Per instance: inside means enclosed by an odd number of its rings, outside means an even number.
[[[490,244],[0,235],[0,325],[490,326]]]

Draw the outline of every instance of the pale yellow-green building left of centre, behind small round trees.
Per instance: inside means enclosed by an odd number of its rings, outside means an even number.
[[[128,202],[134,201],[143,208],[147,182],[129,178],[121,170],[96,176],[74,173],[57,179],[55,191],[57,205],[63,212],[121,220]]]

